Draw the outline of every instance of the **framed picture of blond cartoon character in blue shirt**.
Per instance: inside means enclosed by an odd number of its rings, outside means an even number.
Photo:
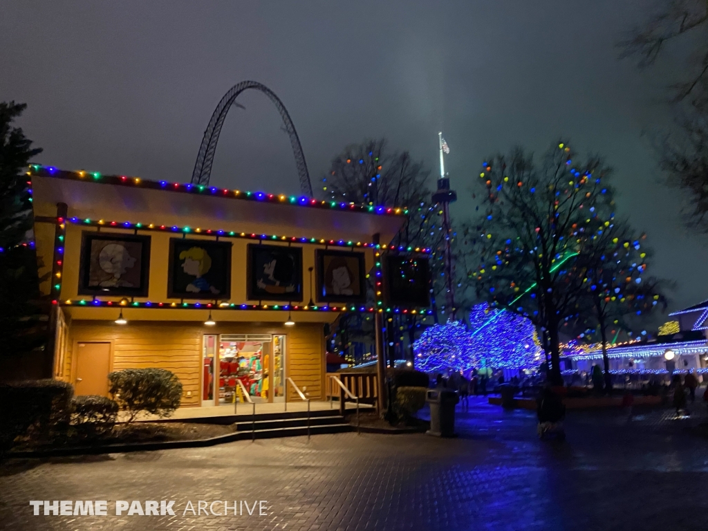
[[[230,299],[229,241],[170,239],[167,296],[171,299]]]

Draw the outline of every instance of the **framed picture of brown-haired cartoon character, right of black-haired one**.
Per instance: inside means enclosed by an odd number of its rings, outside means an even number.
[[[318,249],[316,263],[318,301],[365,302],[364,253]]]

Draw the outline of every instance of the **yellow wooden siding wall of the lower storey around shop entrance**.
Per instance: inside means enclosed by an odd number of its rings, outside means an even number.
[[[118,326],[105,321],[73,321],[69,326],[64,379],[72,378],[72,350],[77,342],[112,343],[111,370],[155,367],[174,372],[183,385],[182,406],[200,406],[202,336],[205,333],[284,333],[285,372],[313,400],[324,399],[324,334],[321,324],[273,329],[249,323],[224,324],[205,330],[202,324],[131,321]],[[73,382],[72,382],[73,383]],[[303,389],[304,390],[304,389]],[[191,396],[187,393],[191,392]],[[288,386],[288,400],[299,397]]]

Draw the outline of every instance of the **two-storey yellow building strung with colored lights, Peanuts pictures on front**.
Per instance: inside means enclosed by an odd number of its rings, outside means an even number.
[[[232,403],[236,379],[256,401],[283,400],[287,377],[324,399],[326,324],[426,311],[382,299],[381,253],[404,210],[38,165],[28,176],[55,377],[76,394],[159,367],[181,380],[183,406]]]

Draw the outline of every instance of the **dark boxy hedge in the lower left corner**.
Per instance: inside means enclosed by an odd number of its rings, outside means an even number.
[[[28,436],[49,440],[67,433],[74,388],[55,379],[0,384],[0,451]]]

